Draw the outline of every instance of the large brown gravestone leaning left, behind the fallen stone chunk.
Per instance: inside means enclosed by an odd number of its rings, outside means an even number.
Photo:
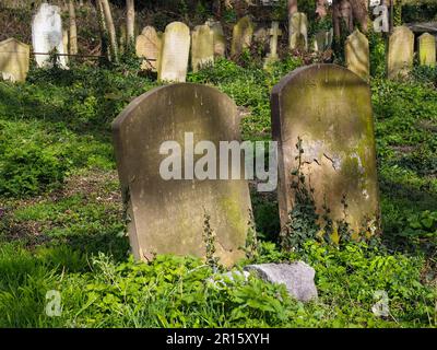
[[[190,162],[193,150],[185,141],[186,132],[192,132],[196,149],[201,140],[218,150],[220,141],[240,139],[237,108],[228,96],[200,84],[161,86],[135,98],[114,121],[113,130],[137,258],[149,260],[155,253],[204,257],[205,213],[216,233],[221,262],[229,266],[244,257],[238,248],[245,245],[250,221],[247,180],[199,180],[189,174],[194,179],[165,180],[160,172],[168,158],[161,153],[165,141],[180,145],[181,160],[174,163],[174,172]],[[194,155],[194,162],[200,158]],[[185,175],[190,168],[184,166]]]

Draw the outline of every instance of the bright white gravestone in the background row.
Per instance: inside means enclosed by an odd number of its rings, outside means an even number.
[[[64,55],[62,21],[60,10],[56,5],[42,3],[32,22],[32,44],[36,52],[35,60],[38,67],[50,66],[50,52]],[[39,55],[43,54],[43,55]],[[67,68],[67,57],[58,57],[59,66]]]

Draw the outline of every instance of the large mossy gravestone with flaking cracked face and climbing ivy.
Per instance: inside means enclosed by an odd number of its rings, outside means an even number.
[[[345,68],[303,67],[273,88],[282,226],[296,202],[297,189],[292,185],[300,174],[306,188],[314,189],[320,218],[327,208],[334,223],[347,222],[355,235],[379,232],[373,122],[369,86]]]

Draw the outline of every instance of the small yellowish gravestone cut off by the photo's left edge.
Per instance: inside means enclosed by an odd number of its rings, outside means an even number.
[[[31,48],[14,38],[0,43],[0,77],[4,80],[25,81],[28,72]]]

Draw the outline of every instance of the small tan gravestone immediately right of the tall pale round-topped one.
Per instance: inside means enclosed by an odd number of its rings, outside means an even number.
[[[191,67],[197,72],[214,65],[214,33],[209,25],[198,25],[191,35]]]

